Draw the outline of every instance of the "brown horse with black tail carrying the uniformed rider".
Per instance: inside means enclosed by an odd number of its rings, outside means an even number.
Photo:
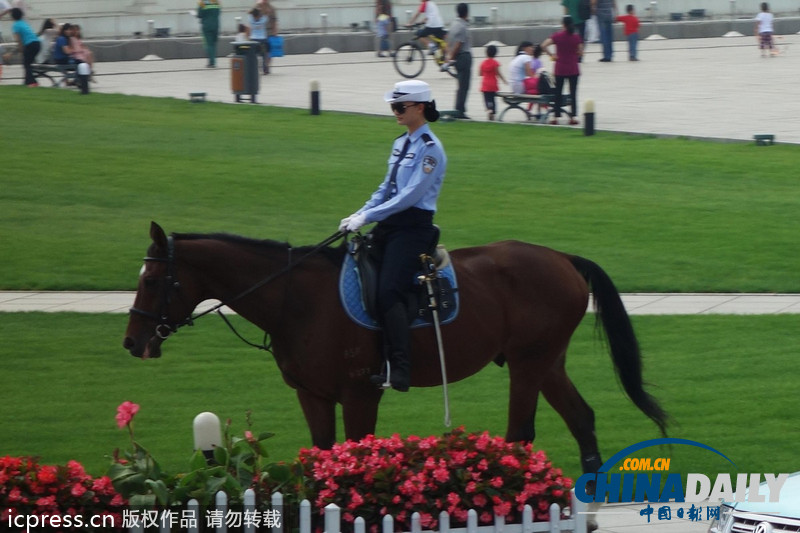
[[[329,448],[335,442],[336,403],[342,405],[348,439],[375,431],[382,391],[369,376],[381,368],[380,343],[378,333],[353,323],[340,303],[337,279],[344,246],[291,248],[225,234],[167,237],[155,222],[150,236],[153,243],[123,343],[132,355],[159,357],[164,339],[192,322],[195,307],[217,299],[269,334],[283,378],[297,391],[314,445]],[[665,412],[643,389],[630,319],[599,266],[518,241],[454,250],[451,257],[461,309],[442,327],[448,379],[464,379],[492,361],[508,363],[507,439],[534,439],[542,392],[578,441],[584,470],[595,472],[602,464],[593,411],[565,369],[589,286],[623,388],[665,431]],[[412,354],[411,385],[441,385],[430,330],[414,330]]]

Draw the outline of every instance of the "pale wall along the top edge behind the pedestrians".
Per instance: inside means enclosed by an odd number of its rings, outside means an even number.
[[[60,22],[76,22],[83,26],[86,38],[132,37],[134,32],[147,34],[148,21],[156,28],[169,27],[171,35],[198,33],[197,19],[189,14],[196,7],[194,0],[26,0],[28,19],[37,27],[42,19],[54,17]],[[222,31],[235,33],[236,17],[245,17],[255,0],[220,0],[223,8]],[[650,17],[649,0],[617,0],[619,7],[632,3],[640,17]],[[394,0],[394,15],[400,23],[407,20],[407,11],[415,11],[418,0]],[[446,21],[455,18],[457,0],[439,0]],[[500,25],[552,23],[563,14],[559,0],[498,0],[468,2],[472,16],[487,17]],[[363,25],[374,14],[373,0],[273,0],[278,11],[279,26],[284,32],[349,29]],[[730,18],[731,7],[736,17],[751,17],[759,9],[759,0],[658,0],[658,18],[666,20],[670,13],[686,13],[706,9],[714,18]],[[796,0],[773,0],[772,11],[780,15],[798,14]],[[327,17],[321,17],[326,14]],[[5,25],[6,21],[3,21]],[[6,29],[8,31],[8,29]]]

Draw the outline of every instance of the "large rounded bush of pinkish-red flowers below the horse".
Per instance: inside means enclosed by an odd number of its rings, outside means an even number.
[[[441,511],[453,527],[466,523],[469,509],[480,524],[493,523],[494,515],[515,522],[526,504],[536,520],[547,520],[550,504],[569,504],[572,486],[530,444],[463,428],[444,437],[368,436],[331,450],[304,449],[298,465],[301,479],[282,489],[289,501],[307,498],[319,513],[335,503],[345,522],[360,516],[373,530],[389,514],[408,531],[414,512],[426,529],[437,527]]]

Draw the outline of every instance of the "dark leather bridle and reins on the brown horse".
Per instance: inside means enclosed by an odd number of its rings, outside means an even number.
[[[190,311],[189,314],[186,316],[186,318],[184,318],[183,320],[181,320],[179,322],[174,322],[174,321],[171,321],[169,319],[169,316],[168,316],[169,315],[170,305],[172,304],[172,301],[173,301],[173,295],[176,295],[179,298],[182,298],[182,296],[181,296],[181,292],[180,292],[181,284],[178,281],[176,270],[175,270],[175,238],[174,238],[173,235],[169,235],[167,237],[167,256],[166,257],[151,257],[151,256],[147,256],[147,257],[144,258],[145,263],[147,263],[147,262],[157,262],[157,263],[166,263],[166,265],[167,265],[167,275],[161,280],[161,296],[159,298],[159,310],[158,310],[158,312],[157,313],[151,313],[150,311],[145,311],[144,309],[139,309],[138,307],[131,307],[128,310],[128,312],[130,314],[140,315],[140,316],[143,316],[145,318],[149,318],[150,320],[154,321],[156,323],[156,330],[155,330],[156,335],[162,340],[165,340],[167,337],[169,337],[173,333],[177,332],[178,329],[183,327],[183,326],[193,326],[194,325],[194,321],[196,319],[198,319],[200,317],[203,317],[205,315],[208,315],[208,314],[216,312],[220,317],[222,317],[222,319],[225,321],[225,323],[228,325],[228,327],[231,329],[231,331],[233,331],[236,334],[236,336],[239,337],[241,340],[243,340],[246,344],[249,344],[250,346],[253,346],[255,348],[259,348],[259,349],[262,349],[262,350],[271,351],[270,346],[267,345],[267,342],[266,342],[266,339],[267,339],[267,334],[266,333],[264,334],[264,341],[261,344],[255,344],[255,343],[252,343],[252,342],[248,341],[247,339],[242,337],[239,334],[238,331],[236,331],[236,329],[233,327],[233,324],[231,324],[231,322],[228,320],[228,318],[222,313],[222,308],[225,307],[226,305],[229,305],[230,303],[232,303],[232,302],[234,302],[236,300],[244,298],[248,294],[250,294],[250,293],[256,291],[257,289],[263,287],[267,283],[270,283],[271,281],[275,280],[276,278],[278,278],[278,277],[290,272],[292,270],[292,268],[294,268],[296,265],[300,264],[304,260],[306,260],[309,257],[311,257],[312,255],[316,254],[317,252],[322,250],[324,247],[326,247],[326,246],[338,241],[339,239],[341,239],[342,237],[345,237],[345,236],[346,236],[346,233],[338,231],[338,232],[334,233],[333,235],[331,235],[330,237],[328,237],[327,239],[325,239],[324,241],[322,241],[321,243],[317,244],[313,249],[311,249],[308,253],[302,255],[301,257],[299,257],[297,260],[292,260],[292,249],[289,248],[288,249],[288,254],[289,255],[288,255],[287,265],[285,267],[283,267],[281,270],[279,270],[278,272],[275,272],[274,274],[271,274],[270,276],[267,276],[266,278],[262,279],[261,281],[259,281],[258,283],[252,285],[251,287],[245,289],[244,291],[240,292],[239,294],[237,294],[237,295],[235,295],[235,296],[233,296],[231,298],[228,298],[226,300],[223,300],[223,301],[219,302],[218,304],[210,307],[209,309],[206,309],[205,311],[202,311],[202,312],[200,312],[200,313],[198,313],[196,315],[192,315],[192,312]]]

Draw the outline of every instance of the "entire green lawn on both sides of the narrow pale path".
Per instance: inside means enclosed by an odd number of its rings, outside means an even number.
[[[380,182],[388,117],[2,86],[0,289],[133,289],[156,220],[167,231],[225,231],[313,244]],[[588,257],[622,291],[798,292],[796,146],[495,123],[441,123],[448,173],[437,221],[450,248],[515,238]],[[794,471],[794,316],[635,317],[646,378],[674,417],[670,435],[725,453],[741,472]],[[126,317],[0,314],[0,454],[93,473],[125,446],[114,424],[141,404],[136,434],[171,471],[191,454],[191,421],[211,410],[273,431],[273,458],[309,444],[299,406],[268,356],[217,319],[182,330],[161,360],[121,347]],[[249,337],[257,336],[245,327]],[[658,436],[628,402],[589,321],[569,358],[595,408],[605,457]],[[453,419],[502,434],[506,370],[451,388]],[[378,433],[444,431],[441,390],[389,393]],[[340,431],[341,434],[341,431]],[[577,447],[540,408],[537,445],[577,476]],[[672,471],[729,465],[678,446]]]

